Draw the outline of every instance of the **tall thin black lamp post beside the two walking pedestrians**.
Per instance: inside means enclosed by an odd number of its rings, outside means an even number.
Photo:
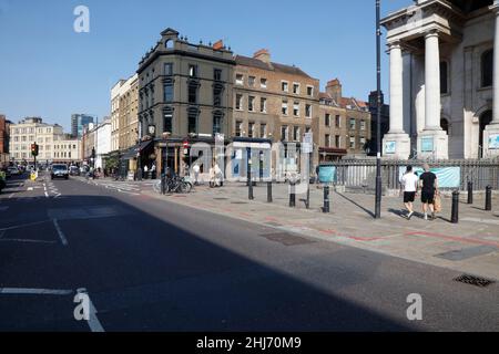
[[[376,121],[376,206],[375,218],[381,218],[381,27],[380,0],[376,0],[376,82],[377,82],[377,121]]]

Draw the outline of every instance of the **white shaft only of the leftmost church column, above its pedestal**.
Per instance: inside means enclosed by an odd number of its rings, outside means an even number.
[[[390,131],[404,133],[403,56],[399,42],[389,44],[390,53]]]

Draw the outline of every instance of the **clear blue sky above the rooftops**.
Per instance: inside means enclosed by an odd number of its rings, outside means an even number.
[[[381,11],[410,3],[381,0]],[[73,31],[79,4],[90,9],[90,33]],[[374,0],[0,0],[0,113],[65,131],[72,113],[109,115],[110,88],[167,27],[196,43],[224,39],[237,54],[267,48],[323,87],[339,77],[346,96],[367,100],[376,87]]]

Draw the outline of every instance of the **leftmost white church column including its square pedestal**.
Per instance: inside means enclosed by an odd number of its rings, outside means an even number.
[[[404,62],[399,41],[389,43],[390,131],[383,138],[383,157],[408,159],[410,138],[404,132]]]

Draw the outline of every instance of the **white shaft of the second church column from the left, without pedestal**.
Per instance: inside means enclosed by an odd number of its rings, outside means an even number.
[[[440,127],[440,50],[438,33],[425,35],[425,131],[441,131]]]

